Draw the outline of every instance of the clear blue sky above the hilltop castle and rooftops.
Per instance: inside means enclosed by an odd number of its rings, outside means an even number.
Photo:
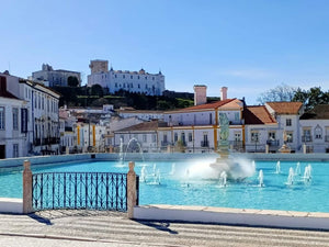
[[[91,59],[114,69],[158,72],[166,88],[257,103],[286,83],[329,90],[329,1],[10,0],[1,1],[0,71],[90,74]]]

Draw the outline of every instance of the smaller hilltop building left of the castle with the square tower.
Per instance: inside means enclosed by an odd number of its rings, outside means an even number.
[[[32,80],[43,83],[46,81],[46,86],[48,87],[55,87],[55,86],[61,86],[67,87],[68,86],[68,78],[69,77],[76,77],[79,85],[81,85],[81,74],[77,71],[70,71],[65,69],[53,69],[52,66],[47,64],[43,64],[42,70],[32,72]]]

